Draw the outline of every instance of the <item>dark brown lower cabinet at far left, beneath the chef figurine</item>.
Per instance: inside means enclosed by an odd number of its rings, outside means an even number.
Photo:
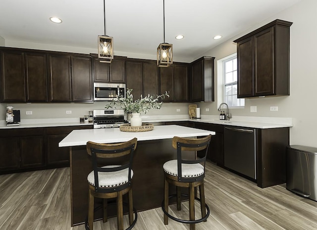
[[[1,129],[0,158],[0,171],[5,173],[43,167],[43,128]]]

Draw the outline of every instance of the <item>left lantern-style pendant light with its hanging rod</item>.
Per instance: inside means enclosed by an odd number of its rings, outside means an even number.
[[[113,38],[106,35],[106,6],[104,0],[105,35],[98,36],[99,62],[111,63],[113,59]]]

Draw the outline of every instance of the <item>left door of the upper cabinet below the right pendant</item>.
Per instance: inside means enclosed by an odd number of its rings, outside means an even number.
[[[160,67],[160,93],[169,93],[169,97],[165,97],[163,102],[174,101],[174,66]]]

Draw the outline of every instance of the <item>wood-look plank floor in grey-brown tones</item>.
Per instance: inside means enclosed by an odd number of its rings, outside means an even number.
[[[70,227],[69,168],[0,175],[0,230],[85,230]],[[163,191],[162,191],[163,193]],[[317,202],[297,196],[285,184],[261,189],[249,180],[209,162],[205,178],[211,215],[197,230],[316,230]],[[200,218],[199,204],[196,216]],[[188,202],[170,213],[188,219]],[[128,219],[124,217],[124,228]],[[116,218],[94,223],[95,230],[115,230]],[[163,224],[160,208],[138,213],[135,230],[188,230]]]

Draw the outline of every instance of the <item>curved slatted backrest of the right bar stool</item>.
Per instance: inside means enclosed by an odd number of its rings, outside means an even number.
[[[180,138],[174,137],[172,141],[172,146],[177,151],[177,174],[178,181],[180,182],[194,182],[201,180],[205,177],[205,173],[203,175],[197,177],[182,177],[182,164],[196,164],[201,163],[204,166],[205,172],[205,164],[206,164],[206,156],[209,149],[209,144],[211,141],[211,135],[203,137],[203,138]],[[204,157],[197,158],[194,160],[183,159],[182,153],[188,151],[202,151],[206,150]]]

